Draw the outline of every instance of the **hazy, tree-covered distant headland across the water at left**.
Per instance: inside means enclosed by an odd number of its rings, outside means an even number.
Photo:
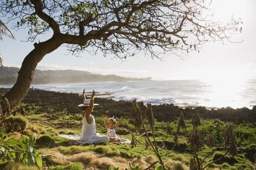
[[[14,84],[18,77],[19,68],[3,67],[0,69],[0,85]],[[151,77],[132,78],[115,74],[101,75],[79,70],[35,70],[32,84],[52,83],[88,83],[108,81],[149,81]]]

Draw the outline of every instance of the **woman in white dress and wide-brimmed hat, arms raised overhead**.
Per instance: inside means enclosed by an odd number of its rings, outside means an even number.
[[[93,107],[98,104],[93,103],[95,91],[92,91],[91,99],[85,98],[85,90],[83,91],[84,104],[78,105],[83,108],[83,128],[79,140],[75,140],[74,144],[86,144],[86,143],[102,143],[106,144],[109,142],[108,136],[100,135],[96,133],[95,119],[91,115]]]

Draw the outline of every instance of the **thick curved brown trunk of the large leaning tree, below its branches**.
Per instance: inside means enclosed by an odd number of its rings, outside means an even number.
[[[54,36],[45,42],[34,44],[35,48],[22,62],[16,83],[6,95],[2,97],[2,99],[7,98],[9,100],[11,110],[27,95],[38,62],[41,61],[46,54],[57,49],[62,43],[63,40],[61,40],[61,36]],[[6,112],[6,108],[2,109],[3,113]]]

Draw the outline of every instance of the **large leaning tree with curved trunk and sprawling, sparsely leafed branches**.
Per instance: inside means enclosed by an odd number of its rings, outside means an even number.
[[[15,29],[28,29],[28,41],[53,34],[34,43],[4,98],[11,109],[16,107],[29,90],[37,63],[62,44],[73,55],[100,50],[125,60],[138,52],[160,59],[168,53],[182,56],[205,42],[230,41],[231,34],[242,30],[240,19],[228,24],[212,21],[209,5],[204,0],[2,1],[0,12],[15,22]]]

